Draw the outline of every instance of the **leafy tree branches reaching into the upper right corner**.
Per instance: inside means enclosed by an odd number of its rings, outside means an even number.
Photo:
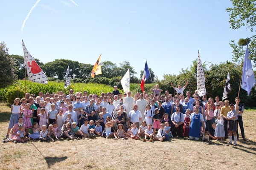
[[[230,16],[230,27],[233,29],[247,28],[248,37],[250,39],[249,51],[250,57],[253,59],[254,65],[256,65],[256,0],[231,0],[233,8],[227,8]],[[242,37],[245,38],[245,37]],[[233,60],[241,61],[244,57],[245,49],[243,49],[242,43],[236,44],[234,40],[231,40],[230,46],[233,48]]]

